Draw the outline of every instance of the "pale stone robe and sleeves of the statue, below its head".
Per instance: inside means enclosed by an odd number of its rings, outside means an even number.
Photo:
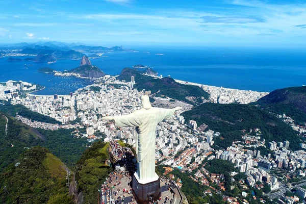
[[[159,122],[170,119],[175,109],[150,108],[135,111],[129,115],[114,116],[119,127],[136,127],[137,136],[137,174],[141,181],[156,177],[155,139]]]

